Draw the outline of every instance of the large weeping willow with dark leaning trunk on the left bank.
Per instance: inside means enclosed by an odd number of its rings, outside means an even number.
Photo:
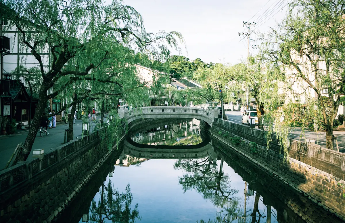
[[[130,69],[134,64],[132,55],[136,51],[164,61],[169,56],[168,47],[178,50],[178,40],[183,41],[175,31],[146,32],[141,15],[117,0],[108,5],[102,0],[8,0],[0,8],[9,26],[17,27],[19,44],[36,58],[42,76],[36,113],[24,142],[26,150],[20,152],[14,164],[27,159],[46,102],[58,96],[60,89],[80,80],[104,84],[113,81],[111,84],[116,85],[121,72],[133,70]],[[48,67],[44,63],[46,58],[40,55],[43,51],[50,53]],[[111,63],[107,72],[90,72],[104,71],[101,65],[105,61]],[[125,71],[128,67],[129,71]],[[107,73],[111,75],[106,76]],[[126,78],[133,76],[131,73]]]

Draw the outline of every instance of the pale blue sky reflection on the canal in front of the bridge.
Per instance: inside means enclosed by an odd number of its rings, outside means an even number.
[[[201,194],[195,190],[187,190],[185,193],[179,185],[179,177],[184,171],[174,169],[175,160],[151,159],[141,163],[140,166],[131,165],[130,167],[115,166],[114,176],[111,181],[114,187],[118,187],[119,192],[124,192],[126,185],[130,183],[133,202],[132,208],[138,203],[139,215],[142,220],[136,222],[197,222],[201,219],[214,220],[216,212],[220,209],[215,207],[209,200],[204,200]],[[217,161],[219,169],[220,161]],[[231,180],[231,188],[237,189],[241,202],[240,207],[244,206],[244,181],[234,172],[225,162],[223,172],[228,174]],[[105,181],[107,183],[109,177]],[[95,200],[98,202],[99,193]],[[250,213],[254,207],[254,196],[247,196],[247,221],[252,220]],[[266,216],[266,206],[259,201],[259,210]],[[276,211],[272,207],[271,222],[275,220]],[[81,222],[81,221],[80,221]],[[109,220],[105,222],[111,222]],[[233,222],[238,222],[237,220]],[[260,222],[266,222],[266,218]]]

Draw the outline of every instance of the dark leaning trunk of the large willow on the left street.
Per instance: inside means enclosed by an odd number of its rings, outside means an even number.
[[[27,151],[23,151],[21,149],[18,156],[13,161],[12,166],[16,165],[17,162],[26,161],[26,159],[28,158],[28,156],[31,152],[32,145],[36,139],[38,128],[41,125],[41,117],[42,117],[43,112],[45,111],[46,106],[47,106],[46,85],[48,85],[48,84],[43,80],[41,87],[40,87],[39,99],[38,99],[38,103],[37,103],[36,112],[35,112],[35,115],[33,116],[32,124],[31,124],[31,127],[30,127],[29,132],[28,132],[28,136],[26,137],[24,145],[23,145],[27,149]]]

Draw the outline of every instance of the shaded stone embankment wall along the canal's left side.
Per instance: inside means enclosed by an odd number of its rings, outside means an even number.
[[[1,222],[51,222],[107,157],[117,152],[117,142],[125,135],[124,128],[117,128],[118,137],[113,133],[107,127],[102,128],[45,151],[41,159],[21,162],[1,171]]]

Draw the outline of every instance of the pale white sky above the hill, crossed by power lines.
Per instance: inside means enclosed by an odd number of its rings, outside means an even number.
[[[187,46],[185,51],[185,46],[181,45],[182,55],[190,60],[200,58],[207,63],[236,64],[247,57],[247,38],[240,41],[243,37],[238,35],[238,32],[245,31],[243,21],[258,21],[255,30],[267,32],[282,20],[287,8],[284,6],[289,1],[124,0],[123,4],[141,13],[147,31],[181,32]],[[259,45],[257,38],[258,35],[252,33],[250,39],[256,41],[251,40],[250,44]],[[250,50],[251,54],[257,52],[252,47]],[[178,53],[175,51],[173,54]]]

